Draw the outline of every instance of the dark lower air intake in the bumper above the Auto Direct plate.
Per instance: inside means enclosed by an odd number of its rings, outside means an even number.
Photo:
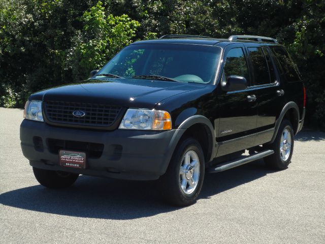
[[[58,154],[60,149],[84,151],[88,158],[98,159],[103,154],[104,144],[83,141],[68,141],[47,139],[48,149],[52,154]]]

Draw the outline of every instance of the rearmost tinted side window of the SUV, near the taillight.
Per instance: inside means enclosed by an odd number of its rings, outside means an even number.
[[[282,73],[286,76],[289,82],[294,82],[299,80],[298,70],[291,60],[289,54],[284,50],[284,48],[276,47],[272,48],[275,56],[280,63],[282,68]]]

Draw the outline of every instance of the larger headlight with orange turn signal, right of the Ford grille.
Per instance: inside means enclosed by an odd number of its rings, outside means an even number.
[[[119,129],[129,130],[171,130],[172,119],[167,111],[149,109],[128,109]]]

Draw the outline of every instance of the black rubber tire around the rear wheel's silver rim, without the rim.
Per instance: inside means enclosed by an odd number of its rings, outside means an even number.
[[[290,149],[290,153],[288,154],[288,157],[286,159],[283,159],[281,158],[280,143],[282,142],[281,137],[285,130],[290,133],[291,149]],[[270,145],[265,146],[269,149],[274,150],[274,154],[264,158],[266,165],[273,169],[278,169],[278,170],[286,169],[289,163],[291,162],[291,157],[293,156],[294,144],[295,144],[295,134],[294,134],[293,126],[291,125],[289,120],[283,119],[274,142]]]

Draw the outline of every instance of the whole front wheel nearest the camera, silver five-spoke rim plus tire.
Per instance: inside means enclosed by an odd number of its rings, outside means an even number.
[[[160,177],[160,188],[172,205],[187,206],[198,199],[204,180],[204,156],[199,142],[192,138],[175,149],[166,173]]]

